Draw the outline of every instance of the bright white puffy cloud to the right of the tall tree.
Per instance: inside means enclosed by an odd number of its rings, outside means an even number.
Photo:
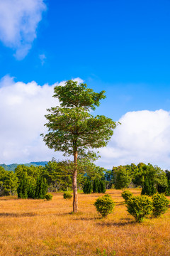
[[[128,112],[120,118],[111,142],[100,150],[106,168],[139,162],[170,166],[170,112]]]

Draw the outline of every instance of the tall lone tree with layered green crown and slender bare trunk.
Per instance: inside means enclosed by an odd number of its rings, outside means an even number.
[[[105,91],[99,93],[87,88],[87,85],[69,80],[64,86],[56,86],[55,94],[60,107],[52,107],[45,115],[48,128],[42,134],[45,144],[55,151],[63,151],[64,156],[74,156],[72,174],[73,212],[77,213],[77,158],[91,148],[106,146],[113,135],[116,123],[103,115],[90,114],[106,98]]]

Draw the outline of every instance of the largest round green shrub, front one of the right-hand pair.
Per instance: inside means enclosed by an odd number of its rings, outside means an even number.
[[[130,213],[138,223],[141,223],[145,216],[152,213],[152,199],[149,196],[131,196],[126,201],[128,213]]]

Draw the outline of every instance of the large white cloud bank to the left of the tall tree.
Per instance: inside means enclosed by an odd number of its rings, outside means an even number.
[[[48,149],[40,137],[45,132],[46,109],[59,105],[52,97],[55,85],[14,82],[9,76],[0,80],[0,164],[63,158],[62,153]]]

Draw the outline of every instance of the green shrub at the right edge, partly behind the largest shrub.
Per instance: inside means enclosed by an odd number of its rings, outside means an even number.
[[[152,201],[153,201],[153,216],[155,218],[159,217],[163,213],[166,212],[168,209],[169,205],[169,200],[164,196],[163,193],[156,193],[154,196],[152,196]]]

